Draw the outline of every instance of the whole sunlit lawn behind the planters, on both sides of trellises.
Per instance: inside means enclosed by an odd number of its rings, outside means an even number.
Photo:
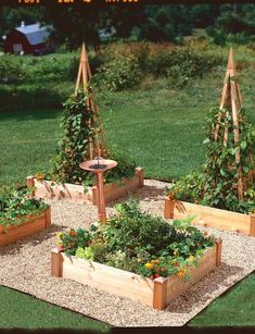
[[[255,123],[253,67],[240,75],[244,107]],[[219,67],[190,87],[146,78],[140,89],[99,96],[109,145],[117,145],[145,169],[145,177],[180,178],[204,162],[205,117],[217,106],[225,77]],[[46,172],[54,157],[61,110],[0,114],[0,184],[23,183]]]

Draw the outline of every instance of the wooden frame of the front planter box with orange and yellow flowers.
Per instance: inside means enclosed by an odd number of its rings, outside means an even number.
[[[128,297],[162,310],[191,285],[220,265],[220,261],[221,239],[217,239],[215,246],[199,259],[199,267],[192,268],[192,276],[189,281],[184,282],[177,275],[152,281],[98,262],[77,259],[73,256],[67,257],[54,248],[51,252],[51,274],[56,277],[71,279],[114,295]]]

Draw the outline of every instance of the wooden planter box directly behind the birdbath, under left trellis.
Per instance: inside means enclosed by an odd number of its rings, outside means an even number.
[[[35,198],[72,199],[75,201],[98,202],[97,187],[85,187],[74,184],[58,184],[52,181],[38,181],[34,176],[27,177],[27,186],[35,188]],[[123,177],[122,183],[107,183],[104,185],[105,202],[115,200],[128,191],[136,190],[143,186],[143,169],[137,168],[136,174],[131,178]]]

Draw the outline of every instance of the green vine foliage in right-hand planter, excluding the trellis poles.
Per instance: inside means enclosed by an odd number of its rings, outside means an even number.
[[[227,109],[221,110],[221,128],[228,128],[228,145],[224,145],[224,131],[219,133],[220,139],[215,140],[214,129],[219,124],[218,109],[211,110],[207,116],[207,137],[204,144],[207,146],[206,163],[202,173],[193,173],[178,181],[167,189],[170,198],[188,200],[219,209],[248,213],[254,211],[255,198],[253,196],[253,183],[248,182],[247,174],[251,171],[251,157],[255,148],[255,128],[246,122],[245,112],[239,112],[240,139],[233,140],[232,113]],[[237,163],[235,152],[240,151],[240,161]],[[240,171],[246,191],[244,199],[239,200],[238,182]]]

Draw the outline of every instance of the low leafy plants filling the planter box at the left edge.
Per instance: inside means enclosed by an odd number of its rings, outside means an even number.
[[[27,215],[37,215],[49,206],[30,197],[31,189],[14,188],[0,193],[0,225],[18,225]]]

